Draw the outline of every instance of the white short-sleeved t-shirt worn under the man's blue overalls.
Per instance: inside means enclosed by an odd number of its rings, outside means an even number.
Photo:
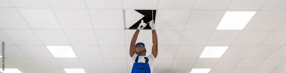
[[[135,63],[135,59],[138,55],[136,53],[134,53],[134,55],[132,57],[130,57],[130,62],[131,62],[131,67],[133,67],[133,64]],[[138,63],[145,63],[145,60],[144,57],[146,56],[138,56]],[[150,70],[151,70],[151,73],[153,71],[153,66],[154,66],[154,61],[155,61],[155,57],[153,56],[153,54],[151,53],[149,56],[147,56],[148,58],[148,64],[150,66]]]

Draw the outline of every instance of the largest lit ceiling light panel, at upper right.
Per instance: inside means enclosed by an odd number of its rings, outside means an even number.
[[[217,29],[242,30],[256,12],[227,11]]]

